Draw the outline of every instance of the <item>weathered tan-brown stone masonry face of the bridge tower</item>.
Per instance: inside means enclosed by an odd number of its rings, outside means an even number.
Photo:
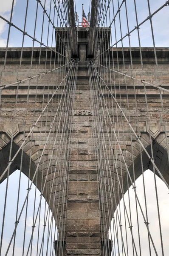
[[[82,47],[84,48],[84,47]],[[16,51],[17,49],[11,49],[12,51]],[[30,50],[30,49],[29,49]],[[81,58],[86,58],[84,55],[84,49],[81,49]],[[112,49],[114,50],[114,49]],[[121,51],[121,49],[119,49]],[[126,49],[126,52],[128,49]],[[133,49],[134,51],[134,49]],[[137,51],[135,49],[135,51]],[[147,49],[147,51],[151,51],[151,49]],[[168,51],[167,49],[165,51]],[[133,52],[134,53],[134,52]],[[124,50],[124,55],[125,55]],[[17,54],[16,54],[17,55]],[[125,57],[126,58],[126,57]],[[85,60],[85,59],[84,59]],[[23,59],[23,65],[19,69],[19,59],[7,58],[6,70],[3,70],[3,64],[0,58],[0,69],[2,72],[1,82],[5,84],[9,84],[11,82],[17,81],[17,79],[23,79],[28,76],[28,70],[30,65],[28,61],[29,58]],[[50,61],[50,60],[49,60]],[[154,58],[144,57],[144,68],[141,69],[141,65],[138,63],[138,57],[134,57],[133,55],[133,69],[130,68],[130,61],[126,62],[126,69],[124,70],[123,64],[119,61],[119,70],[124,71],[124,73],[130,73],[131,76],[135,76],[140,79],[140,73],[142,79],[146,81],[151,81],[155,83],[155,60]],[[60,62],[61,63],[61,62]],[[29,75],[35,75],[37,72],[45,72],[46,69],[49,68],[49,63],[45,67],[45,64],[40,64],[37,70],[37,60],[34,59],[32,70]],[[54,59],[51,60],[51,65],[54,64]],[[117,69],[117,60],[114,59],[115,69]],[[110,63],[111,68],[113,68],[112,62]],[[83,68],[83,70],[81,69]],[[159,58],[158,57],[158,75],[157,79],[159,79],[159,83],[163,84],[163,86],[169,86],[169,64],[168,58]],[[89,90],[89,79],[87,73],[87,65],[84,62],[79,63],[78,67],[78,80],[76,85],[76,97],[73,108],[76,110],[86,109],[88,110],[91,98],[90,98],[90,90]],[[105,79],[110,88],[110,77],[105,74]],[[41,87],[45,86],[45,89],[41,89],[40,87],[36,88],[37,81],[34,79],[30,82],[29,89],[29,99],[27,102],[28,95],[28,83],[25,83],[24,86],[20,85],[18,90],[18,99],[16,106],[16,116],[14,116],[14,104],[16,99],[16,87],[9,87],[3,90],[2,104],[0,106],[0,171],[4,169],[6,163],[8,162],[8,152],[9,148],[7,144],[10,144],[11,141],[11,122],[14,122],[14,145],[17,148],[23,143],[24,133],[25,136],[28,135],[32,125],[34,124],[34,120],[36,120],[39,116],[39,113],[42,111],[42,105],[47,104],[48,95],[51,95],[53,88],[56,88],[56,84],[62,81],[62,74],[54,73],[54,75],[45,75],[42,79],[39,79],[39,85]],[[149,108],[149,113],[147,113],[145,97],[144,97],[144,86],[138,81],[135,82],[135,95],[133,90],[133,83],[131,79],[127,78],[126,81],[124,77],[118,77],[115,75],[114,81],[115,84],[120,83],[119,86],[116,86],[116,99],[120,102],[121,97],[121,107],[124,110],[124,113],[127,116],[130,116],[130,123],[134,130],[141,136],[141,142],[144,147],[146,147],[147,151],[151,155],[151,148],[149,146],[149,131],[153,138],[153,154],[155,163],[160,169],[163,177],[169,183],[169,165],[167,160],[166,148],[169,144],[169,114],[168,114],[168,106],[169,99],[166,93],[162,93],[163,96],[163,113],[161,112],[161,99],[159,97],[158,90],[154,90],[151,87],[146,87],[146,95],[147,95],[147,104]],[[47,87],[49,86],[49,88]],[[127,95],[126,97],[126,86],[127,86]],[[114,93],[114,88],[112,89]],[[57,91],[57,96],[59,96],[62,92],[62,88]],[[103,92],[107,96],[110,96],[108,90],[105,90],[103,87]],[[93,91],[95,93],[95,91]],[[37,94],[37,97],[36,97]],[[44,97],[44,98],[43,98]],[[137,110],[136,112],[136,104],[135,97],[137,99]],[[59,98],[59,97],[58,97]],[[48,114],[44,113],[42,116],[42,122],[39,122],[37,126],[34,128],[34,132],[30,134],[27,142],[23,148],[25,154],[25,163],[29,163],[29,157],[31,157],[31,163],[35,167],[31,168],[31,170],[36,169],[36,165],[40,159],[40,155],[45,146],[46,133],[50,129],[51,120],[54,118],[54,111],[58,107],[59,102],[58,98],[54,100],[53,105],[49,106]],[[103,103],[103,101],[102,101]],[[112,102],[107,101],[107,107],[112,107]],[[115,108],[115,104],[113,103],[113,108]],[[120,116],[120,111],[117,110],[118,115]],[[136,115],[138,113],[138,124],[135,123]],[[97,181],[97,168],[98,164],[96,163],[96,155],[94,148],[94,139],[93,139],[93,131],[97,131],[97,113],[93,112],[95,116],[73,116],[72,127],[71,130],[72,138],[71,138],[71,153],[70,153],[70,163],[69,163],[69,181],[68,181],[68,198],[65,200],[64,206],[62,205],[62,198],[65,196],[65,180],[62,176],[62,168],[64,167],[64,152],[60,152],[59,156],[57,155],[57,150],[59,147],[60,134],[58,134],[57,145],[54,149],[54,154],[52,154],[52,147],[54,144],[54,135],[56,134],[57,128],[62,128],[62,125],[59,124],[59,116],[55,123],[54,131],[52,131],[51,136],[47,142],[45,147],[44,155],[39,164],[39,172],[44,178],[47,175],[48,182],[48,198],[50,192],[54,195],[55,191],[56,198],[55,200],[56,207],[59,205],[59,214],[63,213],[63,218],[66,217],[66,231],[65,231],[65,241],[66,241],[66,249],[68,255],[101,255],[101,234],[100,229],[102,225],[103,213],[100,212],[99,209],[99,192],[98,192],[98,181]],[[132,161],[134,160],[134,166],[137,175],[135,178],[138,178],[141,175],[141,160],[140,160],[140,146],[135,136],[130,133],[130,128],[126,120],[124,120],[123,125],[120,120],[116,119],[115,111],[110,112],[110,116],[116,122],[115,129],[118,131],[118,140],[120,142],[121,151],[124,154],[124,159],[129,168],[129,172],[132,177]],[[162,121],[161,122],[161,118]],[[25,124],[23,125],[23,119],[25,120]],[[164,121],[166,126],[164,126]],[[63,124],[63,120],[61,121]],[[59,126],[60,125],[60,126]],[[107,121],[108,129],[111,129],[110,122]],[[104,124],[103,130],[104,134],[106,134],[106,125]],[[139,129],[138,129],[139,127]],[[166,129],[166,130],[165,130]],[[69,130],[70,131],[70,130]],[[139,131],[139,133],[138,133]],[[65,131],[64,131],[65,132]],[[112,132],[112,130],[111,130]],[[166,135],[167,139],[166,139]],[[106,145],[109,145],[109,140],[105,137]],[[120,154],[119,146],[112,140],[112,151],[110,152],[110,164],[113,166],[113,154],[115,160],[117,160],[118,172],[123,175],[123,185],[124,190],[127,190],[126,183],[126,168],[124,163],[120,163]],[[116,153],[117,154],[116,154]],[[112,155],[112,157],[111,157]],[[50,157],[52,161],[49,166]],[[56,163],[57,157],[61,157],[60,167]],[[147,159],[146,155],[143,154],[144,159],[144,169],[148,167],[152,169],[152,165]],[[17,159],[19,163],[19,158]],[[24,166],[26,168],[26,165]],[[13,165],[13,169],[19,168],[18,165]],[[27,166],[28,168],[28,166]],[[12,170],[13,170],[12,169]],[[33,172],[32,171],[32,172]],[[63,172],[68,172],[68,170],[64,170]],[[115,189],[118,188],[118,179],[117,175],[113,172],[113,175],[110,177],[110,174],[107,177],[107,183],[104,187],[104,197],[106,194],[106,190],[109,191],[108,183],[112,181],[115,185]],[[132,177],[133,178],[133,177]],[[52,181],[54,179],[54,183],[52,186]],[[40,185],[39,185],[40,188]],[[47,201],[48,201],[47,198]],[[105,199],[106,200],[106,199]],[[117,198],[117,202],[118,202]],[[67,211],[63,207],[66,206],[67,203]],[[110,198],[107,198],[107,210],[106,214],[114,204]],[[106,206],[106,204],[105,204]],[[113,209],[115,206],[113,205]],[[110,216],[111,218],[111,216]],[[65,219],[64,219],[65,220]],[[107,214],[107,229],[109,226],[109,218]],[[65,256],[65,255],[64,255]]]

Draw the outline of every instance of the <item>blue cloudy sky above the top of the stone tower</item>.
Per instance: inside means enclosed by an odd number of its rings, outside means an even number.
[[[114,9],[115,13],[118,10],[118,0],[114,1]],[[5,17],[7,20],[10,19],[11,13],[11,3],[12,0],[1,1],[1,8],[0,8],[0,15]],[[41,1],[44,4],[44,0]],[[47,11],[48,15],[50,13],[50,0],[46,0],[45,10]],[[57,2],[57,1],[56,1]],[[82,1],[76,0],[76,11],[79,15],[79,20],[82,19],[82,3],[84,4],[84,11],[87,16],[90,8],[90,1]],[[119,0],[119,3],[121,1]],[[128,0],[127,3],[127,12],[128,12],[128,20],[129,20],[129,30],[131,31],[136,26],[136,19],[135,19],[135,8],[134,8],[134,0]],[[166,3],[166,0],[149,0],[151,12],[155,12],[160,6]],[[14,1],[14,12],[12,16],[12,22],[18,26],[20,29],[24,28],[24,21],[25,21],[25,10],[26,10],[27,0],[15,0]],[[35,24],[35,15],[36,15],[36,0],[29,0],[28,1],[28,15],[26,20],[26,29],[25,31],[28,32],[29,35],[34,35],[34,24]],[[138,23],[141,23],[146,17],[149,16],[148,7],[147,7],[147,0],[136,0],[136,7],[137,7],[137,14],[138,14]],[[125,13],[125,6],[121,7],[121,30],[122,36],[127,34],[127,22],[126,22],[126,13]],[[164,7],[160,12],[155,14],[152,17],[152,25],[153,31],[155,36],[155,45],[156,47],[168,47],[169,46],[169,6]],[[42,32],[42,17],[43,17],[43,9],[41,6],[38,8],[38,15],[37,15],[37,29],[35,38],[41,41],[41,32]],[[110,21],[113,18],[113,6],[110,5]],[[54,5],[52,0],[52,8],[51,8],[51,20],[54,23],[54,26],[60,26],[57,24],[57,17],[54,16]],[[107,16],[107,24],[105,23],[104,26],[109,26],[109,15]],[[116,24],[116,36],[117,41],[121,38],[120,35],[120,26],[119,26],[119,18],[118,16],[115,19]],[[42,36],[42,43],[48,44],[49,46],[55,44],[54,38],[52,43],[52,25],[50,25],[49,29],[49,39],[48,38],[48,18],[45,15],[44,19],[44,26],[43,26],[43,36]],[[149,20],[146,21],[143,25],[141,25],[139,29],[140,38],[141,38],[141,47],[152,47],[152,33],[150,28]],[[6,47],[6,40],[8,36],[8,24],[5,21],[0,19],[0,47]],[[22,32],[17,31],[14,27],[11,27],[10,37],[9,37],[9,47],[21,47],[22,45],[23,34]],[[132,32],[130,36],[131,46],[138,47],[138,36],[137,31]],[[47,42],[48,41],[48,42]],[[112,45],[115,43],[115,31],[114,26],[112,25]],[[128,47],[128,38],[124,39],[124,47]],[[33,44],[32,39],[25,36],[24,47],[31,47]],[[35,46],[39,47],[38,43],[35,43]],[[118,47],[121,47],[121,43],[118,44]]]

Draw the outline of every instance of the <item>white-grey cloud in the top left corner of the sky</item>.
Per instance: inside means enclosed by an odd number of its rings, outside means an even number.
[[[16,0],[14,1],[14,6],[16,5]],[[7,20],[11,15],[12,0],[5,0],[0,6],[0,15]],[[8,28],[6,21],[0,19],[0,47],[6,47],[6,39],[2,37],[3,32]]]

